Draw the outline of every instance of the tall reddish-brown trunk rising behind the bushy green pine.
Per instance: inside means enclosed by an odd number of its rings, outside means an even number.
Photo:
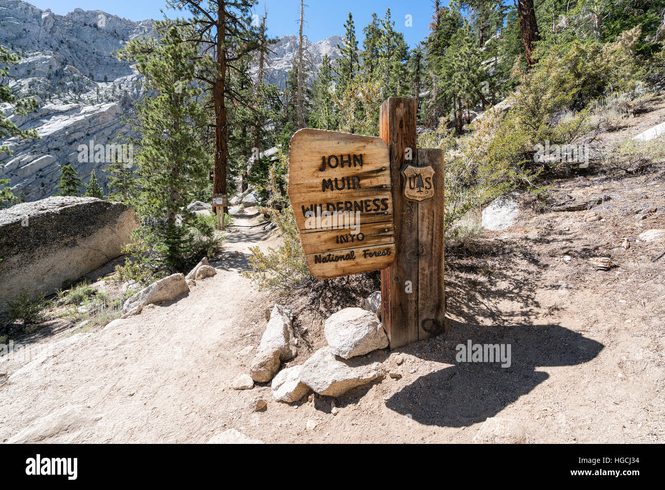
[[[217,77],[213,85],[212,97],[215,108],[215,171],[213,174],[213,194],[226,194],[226,167],[229,161],[227,146],[229,129],[226,126],[224,91],[226,81],[226,12],[225,2],[220,0],[217,9]],[[214,197],[214,196],[213,196]],[[227,212],[224,206],[223,212]]]

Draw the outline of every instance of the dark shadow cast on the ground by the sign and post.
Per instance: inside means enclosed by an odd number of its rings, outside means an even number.
[[[424,425],[464,427],[482,422],[548,379],[538,367],[584,364],[604,348],[556,324],[497,326],[488,331],[487,326],[450,319],[448,323],[453,324],[446,326],[452,332],[450,338],[421,357],[452,366],[418,377],[386,401],[389,409]],[[501,367],[500,361],[466,362],[456,348],[466,347],[469,340],[471,344],[509,344],[510,366]],[[464,362],[458,362],[460,357]]]

